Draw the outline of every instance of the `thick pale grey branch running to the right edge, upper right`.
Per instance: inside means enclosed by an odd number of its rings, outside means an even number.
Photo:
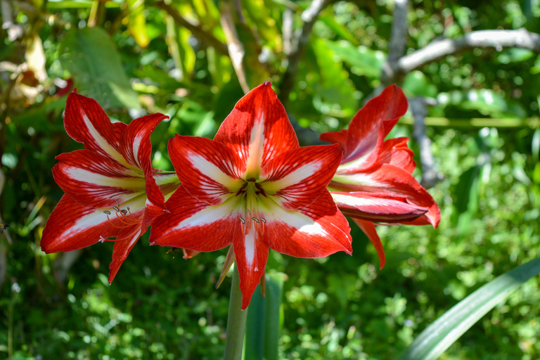
[[[480,30],[470,32],[459,39],[433,41],[423,49],[399,59],[397,70],[401,74],[406,74],[444,56],[475,48],[494,48],[497,51],[505,48],[521,48],[540,53],[540,35],[525,29]]]

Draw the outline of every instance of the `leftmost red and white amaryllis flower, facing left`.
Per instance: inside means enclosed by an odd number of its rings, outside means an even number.
[[[164,194],[179,186],[176,174],[160,173],[150,163],[150,134],[166,118],[153,114],[129,125],[111,123],[97,101],[75,91],[68,96],[65,131],[84,150],[56,157],[53,176],[65,195],[43,231],[44,252],[115,241],[109,266],[113,281],[136,240],[166,211]]]

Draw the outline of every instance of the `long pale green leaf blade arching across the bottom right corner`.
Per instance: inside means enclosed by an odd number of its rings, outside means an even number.
[[[434,360],[518,286],[540,273],[540,257],[490,281],[446,311],[397,360]]]

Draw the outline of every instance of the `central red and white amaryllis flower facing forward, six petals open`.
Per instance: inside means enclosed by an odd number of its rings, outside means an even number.
[[[233,244],[242,309],[264,274],[269,248],[295,257],[352,252],[347,219],[326,190],[339,146],[298,147],[269,83],[250,91],[214,140],[179,136],[169,155],[182,186],[156,219],[150,243],[197,251]]]

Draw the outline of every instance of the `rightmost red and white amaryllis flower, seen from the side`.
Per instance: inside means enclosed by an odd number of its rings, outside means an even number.
[[[407,147],[409,138],[385,141],[406,110],[403,91],[391,85],[354,115],[348,130],[321,134],[321,140],[338,143],[343,150],[328,190],[375,245],[381,269],[385,252],[374,222],[436,228],[441,218],[435,200],[412,176],[416,163]]]

